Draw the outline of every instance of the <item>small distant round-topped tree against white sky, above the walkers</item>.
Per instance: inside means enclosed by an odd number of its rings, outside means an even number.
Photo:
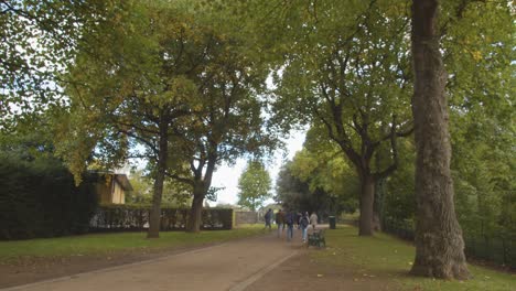
[[[271,180],[269,172],[259,161],[248,161],[247,166],[238,179],[238,205],[255,212],[264,205],[270,193]]]

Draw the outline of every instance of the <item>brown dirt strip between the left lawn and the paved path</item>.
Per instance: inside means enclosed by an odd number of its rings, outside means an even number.
[[[120,251],[103,256],[72,256],[56,258],[20,258],[13,262],[0,262],[0,288],[28,284],[77,273],[152,260],[218,244],[197,245],[173,249]]]

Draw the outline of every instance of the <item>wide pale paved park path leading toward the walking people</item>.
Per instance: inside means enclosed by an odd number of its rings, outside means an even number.
[[[297,233],[292,242],[270,234],[228,241],[157,260],[123,265],[7,290],[246,290],[264,274],[303,251]]]

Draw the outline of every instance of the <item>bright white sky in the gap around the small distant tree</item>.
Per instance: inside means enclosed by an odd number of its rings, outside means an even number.
[[[272,180],[272,194],[276,195],[276,179],[278,176],[281,165],[293,158],[297,151],[301,150],[305,131],[292,131],[290,138],[286,140],[286,150],[278,150],[272,161],[266,164],[266,169]],[[217,193],[217,201],[209,203],[209,205],[216,205],[218,203],[230,203],[236,204],[238,198],[238,179],[240,177],[244,168],[246,166],[246,159],[238,159],[235,165],[228,166],[223,164],[213,175],[212,186],[224,187]],[[271,203],[272,200],[267,201],[266,204]]]

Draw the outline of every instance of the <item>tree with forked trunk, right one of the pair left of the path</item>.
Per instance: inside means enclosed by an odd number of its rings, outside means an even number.
[[[264,103],[258,94],[264,89],[265,71],[243,54],[238,39],[213,31],[212,40],[209,66],[198,74],[200,110],[192,115],[190,126],[175,129],[183,148],[178,153],[190,164],[190,172],[176,171],[171,176],[193,187],[189,231],[200,230],[216,166],[275,143],[262,131]]]

